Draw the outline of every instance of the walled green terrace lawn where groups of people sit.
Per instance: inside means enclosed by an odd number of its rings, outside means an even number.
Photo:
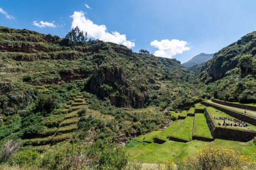
[[[212,107],[207,107],[207,110],[208,112],[210,113],[210,115],[212,116],[212,118],[214,117],[228,117],[228,118],[234,118],[226,113],[223,113],[217,109],[214,109]],[[222,125],[218,125],[218,123],[220,122],[221,124],[223,124],[224,120],[218,120],[218,119],[214,119],[214,122],[216,123],[216,126],[219,126],[219,127],[225,127],[225,126],[222,126]],[[225,120],[226,123],[232,123],[234,124],[234,121],[230,121],[230,120]],[[251,125],[249,123],[248,124],[248,127],[237,127],[237,126],[226,126],[226,128],[232,128],[232,129],[240,129],[240,130],[250,130],[250,131],[256,131],[256,126],[254,125]]]

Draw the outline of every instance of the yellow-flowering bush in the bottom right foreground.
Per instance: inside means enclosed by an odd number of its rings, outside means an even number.
[[[197,151],[197,155],[185,158],[178,164],[178,170],[253,170],[256,162],[251,157],[219,146],[207,146]]]

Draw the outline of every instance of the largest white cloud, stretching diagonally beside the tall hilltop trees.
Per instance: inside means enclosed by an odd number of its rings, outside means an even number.
[[[71,28],[78,26],[84,32],[87,32],[88,37],[93,37],[106,42],[114,42],[117,44],[123,44],[128,48],[134,47],[135,43],[128,41],[125,34],[120,34],[117,31],[107,32],[105,25],[96,25],[93,21],[85,17],[82,11],[74,11],[74,14],[70,16],[73,21]]]

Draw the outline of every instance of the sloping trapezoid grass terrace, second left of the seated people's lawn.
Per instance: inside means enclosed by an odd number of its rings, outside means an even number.
[[[178,128],[173,131],[171,136],[187,141],[192,140],[193,118],[194,117],[190,116],[186,117],[185,120],[180,125],[178,125]]]

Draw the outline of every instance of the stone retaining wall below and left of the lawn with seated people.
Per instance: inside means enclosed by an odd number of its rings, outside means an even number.
[[[256,132],[253,131],[243,131],[238,129],[229,129],[223,127],[217,127],[213,118],[208,113],[205,108],[205,116],[207,117],[207,124],[210,128],[213,138],[232,140],[232,141],[241,141],[248,142],[256,137]]]

